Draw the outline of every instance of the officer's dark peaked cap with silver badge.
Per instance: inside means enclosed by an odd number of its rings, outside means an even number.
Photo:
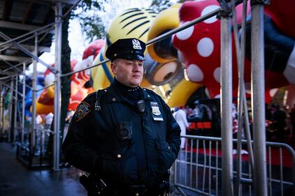
[[[110,61],[115,59],[129,59],[144,61],[145,43],[137,38],[126,38],[115,41],[106,50],[106,57]]]

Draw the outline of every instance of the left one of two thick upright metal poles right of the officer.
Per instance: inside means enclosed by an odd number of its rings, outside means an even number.
[[[221,119],[222,119],[222,195],[233,195],[233,119],[232,119],[232,49],[231,17],[221,17]]]

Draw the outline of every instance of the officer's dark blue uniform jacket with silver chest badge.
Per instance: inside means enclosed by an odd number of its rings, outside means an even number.
[[[94,110],[96,93],[89,94],[77,107],[62,145],[66,160],[99,174],[107,185],[162,181],[178,156],[180,127],[160,96],[140,90],[143,113],[112,85],[99,91],[99,111]],[[130,134],[122,138],[127,130]]]

